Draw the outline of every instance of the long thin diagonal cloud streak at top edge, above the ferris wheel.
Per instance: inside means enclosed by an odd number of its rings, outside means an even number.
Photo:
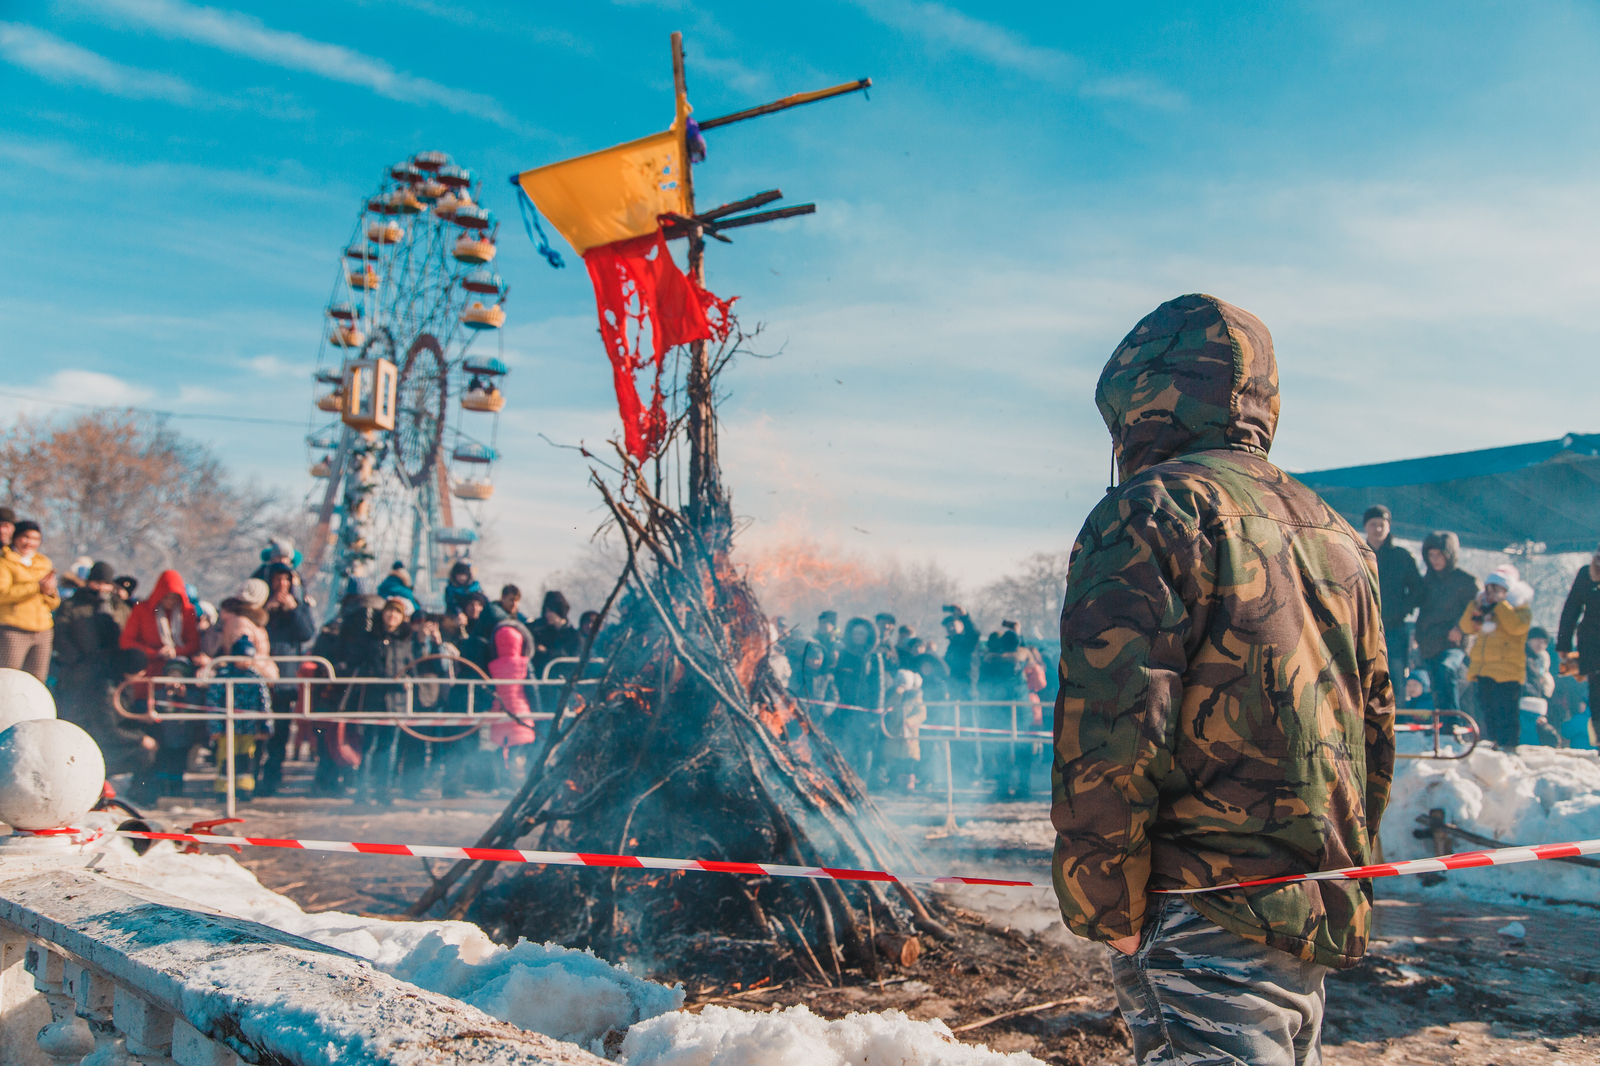
[[[437,104],[458,114],[478,115],[502,126],[518,122],[493,96],[419,78],[342,45],[275,30],[238,11],[202,8],[182,0],[94,0],[96,6],[126,22],[163,37],[210,45],[235,56],[358,85],[379,96],[408,104]]]

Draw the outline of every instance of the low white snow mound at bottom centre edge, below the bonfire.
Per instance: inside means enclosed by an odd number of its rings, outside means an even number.
[[[627,1066],[1040,1066],[1026,1052],[1002,1055],[960,1044],[942,1021],[899,1010],[829,1021],[806,1007],[765,1015],[706,1007],[643,1021],[622,1040]]]

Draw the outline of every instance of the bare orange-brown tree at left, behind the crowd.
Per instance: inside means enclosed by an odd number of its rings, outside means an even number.
[[[171,568],[214,594],[254,570],[270,533],[304,525],[275,495],[234,485],[203,443],[134,411],[19,418],[0,432],[0,487],[58,565],[90,555],[146,581]]]

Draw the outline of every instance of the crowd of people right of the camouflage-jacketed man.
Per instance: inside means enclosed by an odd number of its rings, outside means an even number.
[[[1533,624],[1534,589],[1515,565],[1501,563],[1480,583],[1461,568],[1459,538],[1440,530],[1422,539],[1419,570],[1394,541],[1389,507],[1376,504],[1362,517],[1378,555],[1400,707],[1466,709],[1502,751],[1595,746],[1589,709],[1600,690],[1600,546],[1573,581],[1552,647],[1549,631]]]

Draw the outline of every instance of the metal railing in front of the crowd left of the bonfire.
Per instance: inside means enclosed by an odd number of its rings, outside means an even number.
[[[213,674],[214,667],[227,663],[259,663],[270,661],[274,664],[291,664],[291,663],[310,663],[318,669],[325,669],[326,675],[315,677],[216,677]],[[146,725],[158,725],[162,722],[222,722],[222,736],[226,738],[226,747],[218,755],[219,763],[227,763],[218,767],[224,771],[226,779],[226,797],[227,797],[227,816],[232,818],[238,810],[237,797],[237,768],[234,765],[237,723],[238,722],[302,722],[307,725],[336,725],[339,722],[358,723],[358,725],[394,725],[402,730],[411,731],[414,727],[438,727],[438,725],[470,725],[458,736],[422,736],[419,733],[411,733],[429,743],[453,743],[466,739],[466,736],[480,731],[485,725],[490,725],[493,719],[504,714],[506,717],[518,722],[520,725],[530,725],[538,722],[552,722],[555,714],[549,711],[530,711],[528,714],[512,712],[501,701],[494,701],[493,707],[483,711],[474,711],[478,703],[478,690],[490,688],[491,691],[504,687],[520,687],[520,688],[563,688],[568,685],[566,677],[550,677],[554,667],[563,666],[566,663],[578,663],[578,658],[555,658],[544,664],[541,677],[533,679],[515,679],[515,677],[490,677],[483,669],[472,663],[470,659],[462,659],[459,656],[437,655],[418,659],[418,663],[426,661],[445,661],[454,669],[456,664],[470,667],[477,671],[477,677],[336,677],[333,663],[315,655],[277,655],[277,656],[216,656],[200,669],[195,677],[128,677],[112,690],[112,707],[115,712],[133,722],[141,722]],[[590,658],[590,666],[603,664],[605,659]],[[414,667],[414,664],[413,664]],[[598,677],[579,679],[573,683],[574,693],[582,685],[598,683]],[[250,688],[299,688],[296,701],[299,704],[298,711],[272,711],[270,703],[261,711],[242,711],[237,706],[238,687]],[[443,703],[448,696],[443,690],[450,688],[467,688],[467,711],[418,711],[418,687],[427,690],[440,690],[435,695],[434,703]],[[222,688],[222,706],[211,707],[206,704],[195,704],[189,699],[174,699],[171,695],[186,691],[189,688],[202,688],[210,691],[211,688]],[[317,711],[314,688],[344,688],[346,693],[362,691],[362,690],[382,690],[381,696],[387,696],[392,690],[400,688],[405,693],[405,711],[395,714],[394,711]],[[142,690],[142,695],[138,691]],[[134,691],[136,699],[144,704],[142,712],[130,711],[123,706],[123,693]],[[163,691],[168,698],[160,698],[157,693]],[[346,703],[349,696],[339,699]],[[432,706],[432,704],[424,704]],[[499,707],[496,711],[494,707]]]

